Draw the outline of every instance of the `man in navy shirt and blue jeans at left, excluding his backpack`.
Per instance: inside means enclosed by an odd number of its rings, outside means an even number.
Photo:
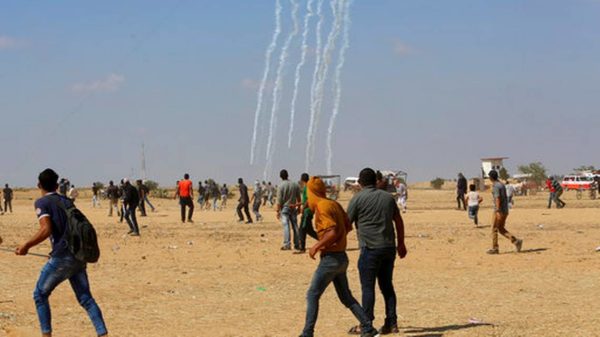
[[[65,231],[68,228],[67,214],[59,206],[66,207],[71,201],[56,193],[58,175],[46,169],[38,177],[38,188],[42,197],[35,202],[35,212],[40,223],[40,230],[26,243],[17,247],[17,255],[27,255],[30,248],[50,238],[52,252],[50,260],[42,268],[40,278],[33,293],[33,299],[40,321],[42,336],[52,336],[50,303],[48,298],[59,284],[69,280],[79,304],[87,311],[98,336],[108,336],[102,312],[90,292],[90,284],[86,272],[86,263],[81,262],[69,252]]]

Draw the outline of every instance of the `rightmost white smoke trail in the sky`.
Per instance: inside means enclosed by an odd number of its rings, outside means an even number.
[[[333,128],[335,126],[335,120],[337,115],[340,112],[340,102],[342,99],[342,69],[344,68],[344,64],[346,63],[346,51],[350,48],[350,25],[352,24],[352,19],[350,17],[350,7],[352,6],[352,0],[344,0],[344,33],[342,37],[342,47],[340,49],[340,54],[338,56],[338,64],[335,68],[335,79],[334,79],[334,90],[335,90],[335,99],[333,103],[333,112],[331,114],[331,118],[329,119],[329,128],[327,129],[327,174],[333,174],[332,170],[332,157],[333,157]]]

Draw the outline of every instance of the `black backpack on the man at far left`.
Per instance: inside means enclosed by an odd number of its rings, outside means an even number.
[[[81,262],[97,262],[100,258],[100,248],[94,226],[75,205],[66,207],[60,197],[56,201],[58,207],[67,214],[64,237],[71,254]]]

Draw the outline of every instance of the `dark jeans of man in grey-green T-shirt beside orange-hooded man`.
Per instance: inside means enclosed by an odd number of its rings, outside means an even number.
[[[358,273],[362,288],[362,306],[365,314],[372,321],[375,319],[375,281],[385,301],[385,325],[393,326],[398,323],[396,315],[396,292],[394,291],[393,275],[396,247],[369,249],[361,248],[358,258]]]

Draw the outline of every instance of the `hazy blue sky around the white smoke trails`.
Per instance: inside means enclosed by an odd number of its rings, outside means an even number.
[[[249,153],[273,13],[270,0],[2,1],[0,181],[32,186],[45,167],[78,185],[138,176],[142,142],[162,184],[184,172],[262,178],[264,158],[250,166]],[[355,0],[334,171],[474,176],[496,155],[513,171],[600,165],[598,22],[595,0]],[[274,168],[293,176],[304,170],[314,57],[287,149],[299,55],[296,41],[275,137]],[[325,125],[311,173],[325,170]]]

